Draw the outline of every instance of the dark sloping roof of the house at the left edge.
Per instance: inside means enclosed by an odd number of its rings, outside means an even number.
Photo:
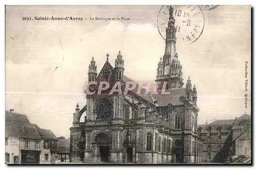
[[[25,114],[5,111],[5,135],[23,137],[30,139],[40,139],[34,125],[29,122]]]

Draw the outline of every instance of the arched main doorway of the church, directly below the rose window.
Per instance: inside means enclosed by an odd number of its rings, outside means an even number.
[[[106,133],[99,133],[95,137],[95,142],[99,148],[100,161],[109,162],[111,137]]]

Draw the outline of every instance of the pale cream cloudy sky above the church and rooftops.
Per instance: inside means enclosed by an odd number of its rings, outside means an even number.
[[[109,53],[118,51],[124,75],[152,82],[164,54],[157,27],[161,6],[7,6],[6,110],[26,114],[31,123],[70,136],[76,104],[86,105],[84,88],[94,57],[99,73]],[[183,67],[197,86],[198,124],[250,114],[251,10],[218,6],[203,10],[204,30],[194,43],[176,43]],[[88,20],[22,20],[23,17],[76,16]],[[103,21],[90,17],[129,17]],[[245,61],[249,66],[248,106],[244,106]],[[58,66],[58,67],[57,67]],[[57,69],[56,69],[57,67]]]

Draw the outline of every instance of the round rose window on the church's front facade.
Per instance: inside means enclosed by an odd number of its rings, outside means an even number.
[[[96,105],[96,111],[99,118],[110,118],[113,112],[112,103],[108,99],[101,99]]]

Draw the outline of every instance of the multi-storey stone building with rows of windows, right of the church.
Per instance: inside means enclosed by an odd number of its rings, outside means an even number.
[[[251,120],[244,114],[236,119],[215,120],[199,125],[198,133],[203,139],[203,162],[227,163],[231,157],[251,157]]]

